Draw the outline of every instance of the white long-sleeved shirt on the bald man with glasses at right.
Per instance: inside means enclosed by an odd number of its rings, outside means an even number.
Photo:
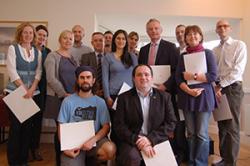
[[[236,81],[243,80],[247,63],[246,44],[229,37],[223,44],[214,48],[218,65],[218,78],[221,87],[226,87]]]

